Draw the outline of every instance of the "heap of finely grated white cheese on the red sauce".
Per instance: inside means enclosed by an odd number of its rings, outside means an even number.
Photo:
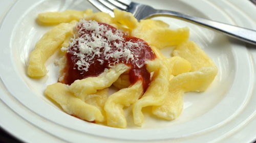
[[[119,30],[113,32],[103,24],[96,21],[80,20],[76,25],[77,34],[71,39],[70,46],[68,48],[61,48],[61,50],[67,50],[76,55],[79,60],[75,63],[78,70],[88,71],[91,64],[94,63],[94,59],[100,62],[100,65],[104,64],[100,56],[104,56],[105,60],[110,58],[115,62],[108,62],[109,67],[112,68],[118,62],[129,62],[129,60],[135,60],[136,66],[139,65],[138,55],[134,56],[136,50],[140,50],[140,44],[143,42],[134,43],[131,41],[124,41],[123,33]],[[73,47],[73,50],[68,50]],[[112,47],[116,47],[117,50],[113,51]],[[95,57],[96,56],[96,57]],[[125,61],[119,61],[119,59],[125,59]]]

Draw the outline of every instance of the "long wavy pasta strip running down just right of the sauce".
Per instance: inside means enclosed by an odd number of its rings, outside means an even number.
[[[142,108],[146,106],[159,106],[162,105],[169,88],[169,69],[164,62],[160,60],[150,61],[147,64],[148,71],[152,72],[154,69],[155,77],[151,82],[150,86],[147,88],[146,92],[141,99],[136,101],[133,105],[133,118],[134,123],[141,126],[144,122],[144,116],[142,113]]]

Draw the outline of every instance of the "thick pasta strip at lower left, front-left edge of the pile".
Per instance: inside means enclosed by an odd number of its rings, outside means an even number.
[[[97,107],[89,105],[73,96],[66,84],[55,83],[48,85],[45,94],[56,101],[70,115],[90,122],[104,121],[104,117]]]

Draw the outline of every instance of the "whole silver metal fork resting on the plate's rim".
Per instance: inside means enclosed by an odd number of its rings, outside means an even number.
[[[190,16],[183,13],[169,11],[169,10],[157,10],[151,6],[142,5],[131,2],[130,0],[88,0],[97,9],[102,12],[109,13],[114,16],[113,9],[119,9],[126,12],[130,12],[138,20],[149,18],[152,16],[172,16],[179,19],[183,19],[192,23],[208,27],[212,30],[221,32],[227,36],[236,38],[238,40],[256,45],[256,31],[248,28],[234,26],[222,22],[217,22],[209,19],[204,19],[196,16]]]

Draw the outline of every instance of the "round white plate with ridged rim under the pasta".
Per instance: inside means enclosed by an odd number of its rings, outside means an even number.
[[[236,5],[224,0],[138,2],[255,28],[255,21],[236,7],[239,2]],[[206,92],[185,94],[184,111],[177,120],[163,121],[146,115],[142,127],[129,122],[129,128],[118,129],[84,122],[50,102],[43,93],[46,85],[57,81],[54,58],[47,62],[46,77],[31,79],[26,75],[29,52],[51,28],[38,25],[36,16],[47,11],[87,8],[93,7],[84,0],[19,0],[13,5],[0,29],[0,106],[6,114],[0,120],[2,127],[26,142],[249,142],[255,139],[256,134],[248,131],[256,126],[255,50],[249,52],[244,43],[169,17],[155,19],[164,20],[172,28],[188,26],[190,40],[198,43],[219,69]],[[169,54],[168,50],[164,51]]]

